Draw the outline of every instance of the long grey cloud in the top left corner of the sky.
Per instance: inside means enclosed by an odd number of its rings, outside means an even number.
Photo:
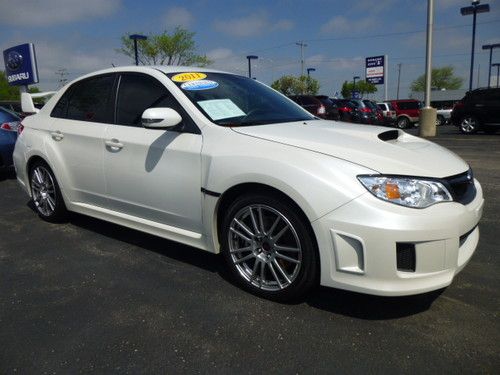
[[[0,23],[30,27],[56,26],[105,17],[121,7],[121,0],[3,0]]]

